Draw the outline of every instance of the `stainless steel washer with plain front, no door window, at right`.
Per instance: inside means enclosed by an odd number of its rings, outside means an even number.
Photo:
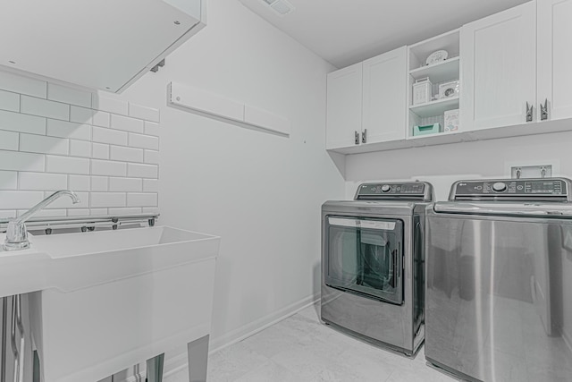
[[[459,181],[427,208],[427,361],[470,381],[572,380],[571,187]]]

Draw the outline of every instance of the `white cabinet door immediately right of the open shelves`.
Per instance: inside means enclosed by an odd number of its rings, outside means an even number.
[[[526,122],[536,111],[536,4],[530,2],[461,28],[461,124],[478,130]]]

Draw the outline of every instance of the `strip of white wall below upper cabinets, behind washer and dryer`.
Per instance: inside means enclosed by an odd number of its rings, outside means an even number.
[[[455,180],[510,177],[509,166],[517,164],[550,163],[553,176],[571,176],[570,141],[572,132],[557,132],[349,155],[347,193],[361,181],[413,178],[433,183],[437,199],[446,200]]]

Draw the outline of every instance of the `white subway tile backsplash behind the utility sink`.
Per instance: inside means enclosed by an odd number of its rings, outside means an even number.
[[[0,72],[0,217],[158,213],[160,111]]]

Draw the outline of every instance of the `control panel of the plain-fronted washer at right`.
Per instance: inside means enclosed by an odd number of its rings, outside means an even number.
[[[453,184],[450,200],[463,197],[530,198],[566,197],[569,181],[563,178],[460,181]]]

